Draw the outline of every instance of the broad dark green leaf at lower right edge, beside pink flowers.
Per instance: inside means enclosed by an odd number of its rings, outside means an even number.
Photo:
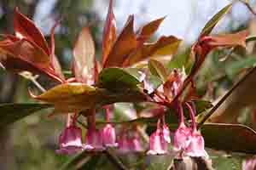
[[[201,127],[206,147],[215,150],[256,154],[256,133],[240,124],[206,123]]]

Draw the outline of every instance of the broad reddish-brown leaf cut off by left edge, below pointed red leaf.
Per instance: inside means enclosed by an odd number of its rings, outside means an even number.
[[[49,63],[49,56],[34,42],[7,36],[0,42],[0,62],[7,70],[31,71],[35,74],[44,73],[62,82]]]

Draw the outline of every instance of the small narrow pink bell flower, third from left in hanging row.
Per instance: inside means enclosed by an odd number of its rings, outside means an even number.
[[[117,147],[118,143],[116,143],[116,135],[114,127],[108,123],[102,129],[102,139],[104,146],[107,147]]]

